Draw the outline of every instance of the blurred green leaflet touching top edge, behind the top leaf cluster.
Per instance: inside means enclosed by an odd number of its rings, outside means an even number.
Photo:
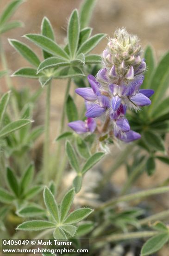
[[[96,0],[84,0],[80,9],[81,29],[88,26]]]

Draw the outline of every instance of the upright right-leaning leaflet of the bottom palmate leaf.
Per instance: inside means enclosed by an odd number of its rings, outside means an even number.
[[[63,197],[63,200],[61,202],[60,206],[60,215],[61,215],[61,222],[65,219],[65,217],[68,215],[70,207],[72,205],[73,199],[75,195],[75,190],[70,189],[66,195]]]

